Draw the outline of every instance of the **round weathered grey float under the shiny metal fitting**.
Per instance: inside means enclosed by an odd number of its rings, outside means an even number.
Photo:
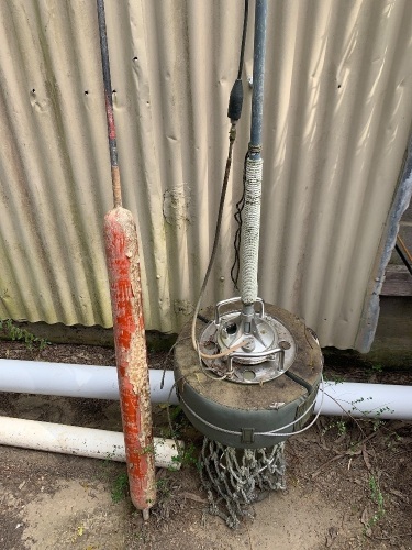
[[[210,318],[213,310],[209,308],[204,315]],[[292,363],[269,382],[233,384],[211,373],[200,364],[191,344],[191,322],[176,344],[175,380],[185,414],[200,432],[229,447],[258,449],[286,440],[286,433],[298,431],[308,421],[316,397],[323,358],[315,334],[285,309],[266,305],[266,311],[287,328],[294,342]],[[198,320],[198,339],[204,328]],[[270,433],[274,430],[278,430],[276,436]]]

